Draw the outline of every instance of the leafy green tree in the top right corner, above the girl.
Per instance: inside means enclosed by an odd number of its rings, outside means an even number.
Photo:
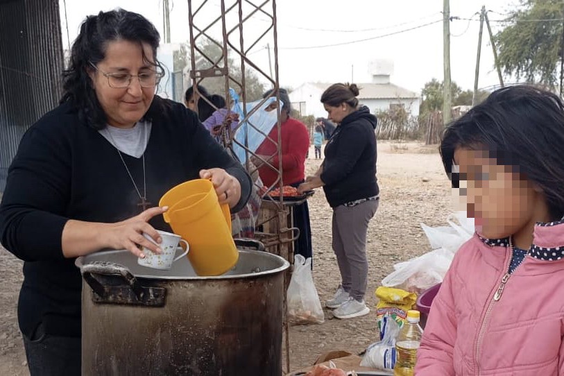
[[[562,0],[520,0],[495,35],[504,74],[554,88],[562,42]],[[554,21],[551,21],[554,20]]]

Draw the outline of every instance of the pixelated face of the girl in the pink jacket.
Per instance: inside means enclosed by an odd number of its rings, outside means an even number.
[[[515,245],[528,249],[536,221],[549,221],[542,192],[514,166],[498,164],[487,151],[457,148],[454,164],[460,198],[468,218],[475,218],[477,232],[488,239],[513,235]]]

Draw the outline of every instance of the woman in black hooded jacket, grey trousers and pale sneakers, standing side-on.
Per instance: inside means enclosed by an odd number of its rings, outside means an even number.
[[[376,179],[377,119],[359,107],[357,85],[331,85],[321,96],[329,119],[338,126],[325,146],[325,160],[299,191],[323,187],[333,208],[333,250],[341,272],[341,285],[326,306],[336,318],[370,312],[364,302],[368,282],[366,232],[379,203]]]

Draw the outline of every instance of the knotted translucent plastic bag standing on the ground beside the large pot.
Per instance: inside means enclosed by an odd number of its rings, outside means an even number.
[[[294,256],[287,298],[289,323],[321,324],[325,321],[314,278],[311,277],[311,257]]]

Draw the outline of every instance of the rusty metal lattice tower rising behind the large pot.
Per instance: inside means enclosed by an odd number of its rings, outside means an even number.
[[[229,89],[234,88],[239,92],[241,99],[241,107],[243,110],[243,119],[239,119],[239,126],[231,129],[226,126],[221,130],[221,142],[225,148],[229,148],[234,155],[234,146],[244,149],[246,158],[241,161],[246,165],[247,171],[252,174],[261,166],[275,171],[277,180],[272,187],[278,186],[282,191],[282,153],[280,148],[281,134],[280,134],[280,106],[277,107],[277,139],[271,139],[268,134],[263,133],[250,121],[253,115],[261,105],[266,103],[267,99],[263,99],[260,103],[253,108],[248,107],[248,103],[252,99],[248,98],[247,93],[247,76],[248,71],[258,76],[259,80],[266,82],[273,89],[271,96],[276,96],[277,102],[280,103],[280,94],[277,89],[280,87],[278,82],[278,46],[277,46],[277,24],[276,24],[276,1],[275,0],[220,0],[219,8],[217,1],[208,0],[188,0],[188,22],[190,31],[190,55],[191,55],[191,80],[194,85],[194,92],[200,94],[197,85],[204,85],[206,78],[223,78],[225,85],[225,99],[229,99]],[[246,27],[253,24],[256,28],[257,23],[263,25],[262,32],[259,33],[246,33]],[[221,29],[221,33],[219,32]],[[254,29],[253,29],[254,30]],[[259,43],[265,44],[268,49],[268,67],[261,68],[259,62],[253,61],[253,51],[256,50]],[[204,44],[212,44],[221,51],[220,55],[212,56],[205,49]],[[273,58],[270,56],[271,46],[273,46]],[[233,64],[230,64],[233,62]],[[272,69],[272,63],[274,69]],[[231,66],[230,66],[231,65]],[[237,71],[237,68],[239,71]],[[216,108],[214,103],[209,99],[200,96],[200,101],[206,101],[212,107]],[[217,109],[217,108],[216,108]],[[253,129],[274,142],[277,147],[277,156],[279,162],[275,166],[273,164],[273,157],[257,156],[254,151],[249,149],[248,139],[245,137],[243,141],[236,139],[234,135],[237,130],[242,127]],[[248,132],[244,133],[248,135]],[[255,164],[250,163],[250,158],[253,157]],[[258,162],[257,162],[258,161]],[[268,187],[268,188],[272,188]],[[257,187],[262,189],[262,187]],[[263,234],[257,233],[257,238],[264,241],[267,248],[288,259],[293,263],[293,248],[292,242],[296,238],[293,225],[288,222],[291,218],[291,210],[282,205],[282,195],[280,201],[270,200],[266,212],[271,212],[273,215],[263,216],[262,221],[257,223],[266,228],[275,230],[275,233],[264,232]],[[266,201],[264,201],[266,202]],[[284,275],[284,288],[287,289],[290,280],[290,271]],[[284,291],[284,337],[285,337],[285,352],[286,352],[286,368],[287,372],[290,371],[290,352],[289,352],[289,325],[286,319],[287,311],[287,295]]]

